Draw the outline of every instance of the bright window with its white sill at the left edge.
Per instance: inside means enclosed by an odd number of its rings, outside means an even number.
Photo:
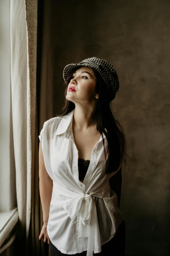
[[[10,84],[10,0],[0,1],[0,253],[18,221]],[[10,242],[8,242],[8,246]],[[5,248],[5,247],[4,247]]]

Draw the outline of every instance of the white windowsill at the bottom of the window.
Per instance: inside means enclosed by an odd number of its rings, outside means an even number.
[[[18,208],[10,212],[0,212],[0,247],[18,222]]]

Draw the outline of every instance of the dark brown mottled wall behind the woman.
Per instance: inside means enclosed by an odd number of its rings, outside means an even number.
[[[54,112],[63,69],[88,57],[110,61],[113,100],[128,143],[120,209],[126,255],[170,255],[170,1],[55,1]]]

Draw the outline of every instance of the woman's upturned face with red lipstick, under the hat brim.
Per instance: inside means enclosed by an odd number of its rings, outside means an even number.
[[[95,93],[95,85],[96,77],[92,68],[81,67],[73,73],[68,84],[66,99],[74,103],[90,103],[98,98],[98,94]]]

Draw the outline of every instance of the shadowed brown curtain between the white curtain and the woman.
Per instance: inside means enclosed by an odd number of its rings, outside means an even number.
[[[34,4],[33,4],[34,3]],[[36,11],[35,11],[36,10]],[[52,1],[26,0],[28,54],[30,69],[31,110],[34,113],[32,122],[34,148],[32,147],[32,200],[29,232],[28,255],[48,255],[49,245],[39,241],[43,226],[42,206],[39,196],[38,176],[38,136],[44,122],[53,117],[53,40],[52,40]],[[38,34],[37,34],[38,31]],[[37,42],[37,44],[36,44]],[[38,57],[35,60],[35,57]],[[37,63],[37,67],[35,64]],[[37,76],[36,76],[37,74]],[[37,83],[36,83],[37,81]],[[37,89],[37,91],[36,91]]]

